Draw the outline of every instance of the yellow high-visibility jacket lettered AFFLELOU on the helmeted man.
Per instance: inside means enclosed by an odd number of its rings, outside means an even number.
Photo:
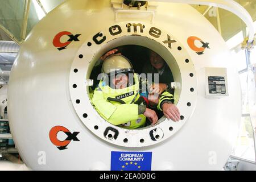
[[[172,96],[168,92],[164,92],[164,94]],[[100,81],[98,88],[94,90],[92,104],[101,117],[113,125],[119,125],[126,129],[136,129],[143,127],[146,122],[146,117],[143,114],[138,114],[138,105],[134,104],[139,97],[139,79],[137,74],[134,74],[134,85],[123,89],[112,89],[108,85],[104,86],[104,82]],[[108,98],[122,100],[125,104],[110,101]],[[168,98],[162,100],[166,99]],[[132,101],[134,102],[131,103]],[[160,109],[160,102],[158,108]]]

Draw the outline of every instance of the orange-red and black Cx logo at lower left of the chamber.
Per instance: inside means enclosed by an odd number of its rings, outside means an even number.
[[[63,140],[60,141],[57,138],[57,134],[62,131],[64,132],[68,137]],[[65,150],[67,149],[68,144],[71,142],[71,140],[73,141],[80,141],[76,136],[79,134],[79,132],[73,132],[71,133],[71,131],[69,131],[68,129],[66,129],[63,126],[54,126],[52,127],[52,129],[49,131],[49,139],[51,140],[51,142],[57,147],[59,148],[59,150]]]

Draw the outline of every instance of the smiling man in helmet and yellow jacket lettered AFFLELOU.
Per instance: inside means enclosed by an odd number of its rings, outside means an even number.
[[[92,103],[98,113],[113,125],[127,129],[143,127],[146,118],[154,125],[158,117],[154,110],[148,109],[148,100],[139,92],[138,74],[134,73],[130,61],[121,55],[111,55],[102,65],[100,83],[94,90]],[[164,102],[173,101],[172,95],[164,92],[158,108]]]

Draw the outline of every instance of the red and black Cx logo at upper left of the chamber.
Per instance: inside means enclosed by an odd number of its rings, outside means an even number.
[[[60,42],[60,38],[61,38],[62,36],[64,36],[64,35],[68,36],[69,39],[67,40],[67,42],[62,43],[62,42]],[[61,51],[61,50],[65,49],[65,48],[67,48],[67,46],[68,46],[72,41],[80,41],[80,40],[78,39],[78,37],[79,37],[80,35],[81,35],[81,34],[73,35],[73,34],[71,34],[71,32],[68,32],[68,31],[59,32],[59,34],[55,35],[55,37],[53,38],[52,44],[53,44],[53,46],[55,46],[55,47],[59,47],[59,48],[57,48],[57,49],[59,49],[59,51]]]

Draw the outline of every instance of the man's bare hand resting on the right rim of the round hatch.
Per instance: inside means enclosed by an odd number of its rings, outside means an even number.
[[[163,104],[163,113],[168,119],[172,119],[172,121],[180,120],[180,112],[179,109],[174,104],[164,103]]]

